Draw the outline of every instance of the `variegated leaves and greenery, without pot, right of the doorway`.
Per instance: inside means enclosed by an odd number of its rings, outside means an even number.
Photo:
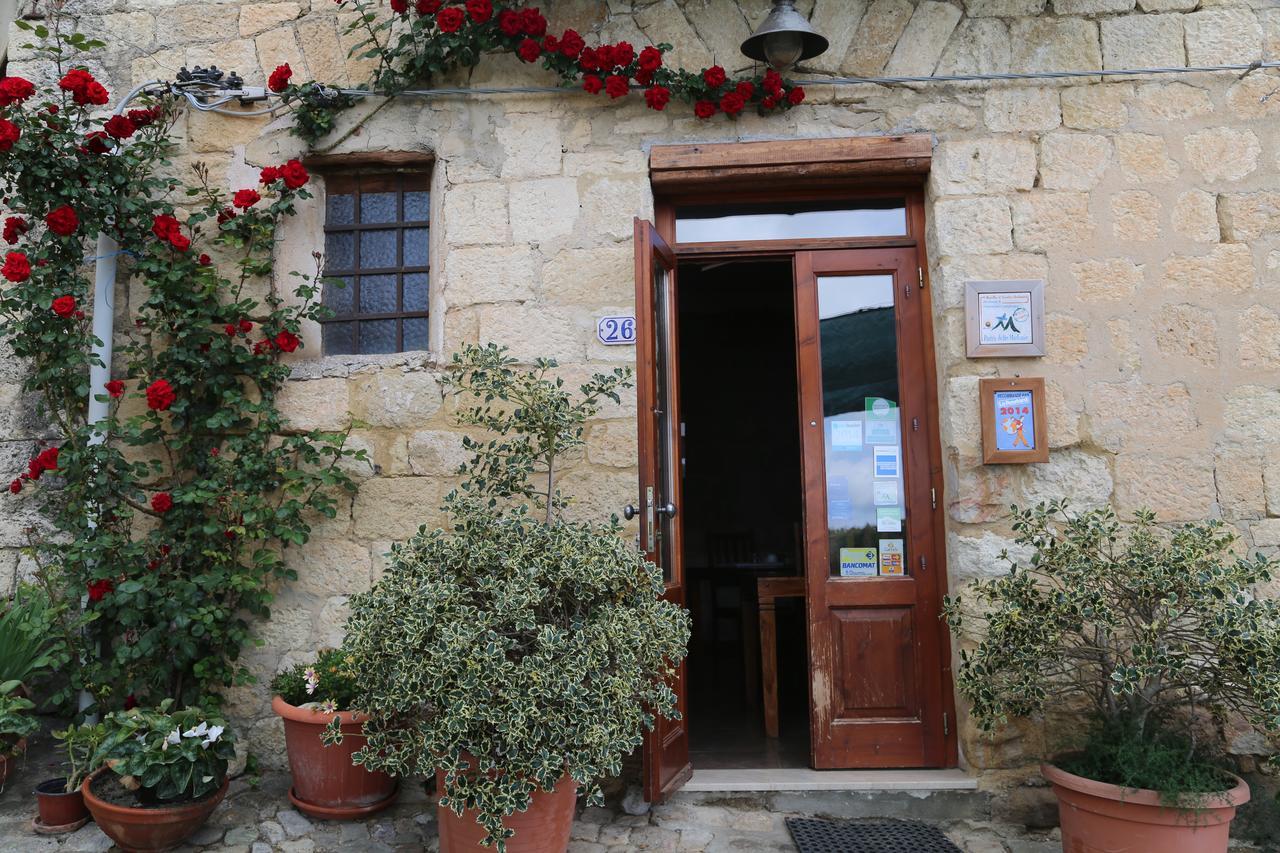
[[[1221,521],[1165,529],[1138,512],[1121,525],[1110,508],[1052,502],[1014,507],[1012,523],[1029,562],[1010,558],[945,608],[957,635],[982,638],[961,648],[956,685],[983,731],[1083,706],[1097,720],[1084,767],[1101,781],[1149,781],[1194,745],[1181,781],[1156,786],[1171,793],[1203,783],[1204,716],[1280,734],[1280,602],[1256,596],[1274,564],[1233,556]]]

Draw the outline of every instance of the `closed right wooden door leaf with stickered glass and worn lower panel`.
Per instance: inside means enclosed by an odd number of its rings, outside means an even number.
[[[813,766],[947,762],[932,336],[915,248],[797,252]]]

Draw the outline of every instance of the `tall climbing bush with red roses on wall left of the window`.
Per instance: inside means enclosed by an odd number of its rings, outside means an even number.
[[[270,280],[275,228],[308,197],[308,175],[296,160],[270,167],[228,202],[197,167],[183,192],[161,177],[165,105],[104,120],[95,108],[108,91],[73,67],[101,42],[19,26],[60,78],[42,93],[0,81],[0,184],[13,211],[0,336],[49,425],[9,491],[38,501],[51,528],[29,551],[68,611],[70,679],[54,699],[84,688],[100,711],[216,703],[250,680],[239,662],[250,617],[269,616],[273,590],[296,576],[282,548],[305,543],[310,520],[333,516],[334,493],[353,488],[339,462],[365,459],[346,434],[291,433],[276,409],[282,353],[326,311],[315,274],[294,273],[289,298]],[[90,389],[86,241],[100,231],[119,242],[138,301],[116,378]],[[97,429],[91,391],[110,403]]]

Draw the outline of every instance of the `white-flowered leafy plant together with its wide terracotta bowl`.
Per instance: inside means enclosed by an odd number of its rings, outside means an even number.
[[[102,720],[95,770],[81,790],[93,821],[123,850],[168,850],[227,795],[236,756],[227,725],[200,708],[115,711]]]

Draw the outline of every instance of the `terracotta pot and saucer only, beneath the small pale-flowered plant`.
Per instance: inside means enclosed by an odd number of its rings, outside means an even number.
[[[372,815],[396,800],[399,785],[393,776],[370,772],[351,763],[364,748],[361,716],[351,711],[321,713],[271,699],[271,710],[284,720],[293,788],[289,800],[298,811],[321,820],[352,820]],[[334,717],[342,720],[342,743],[324,745],[320,734]]]

